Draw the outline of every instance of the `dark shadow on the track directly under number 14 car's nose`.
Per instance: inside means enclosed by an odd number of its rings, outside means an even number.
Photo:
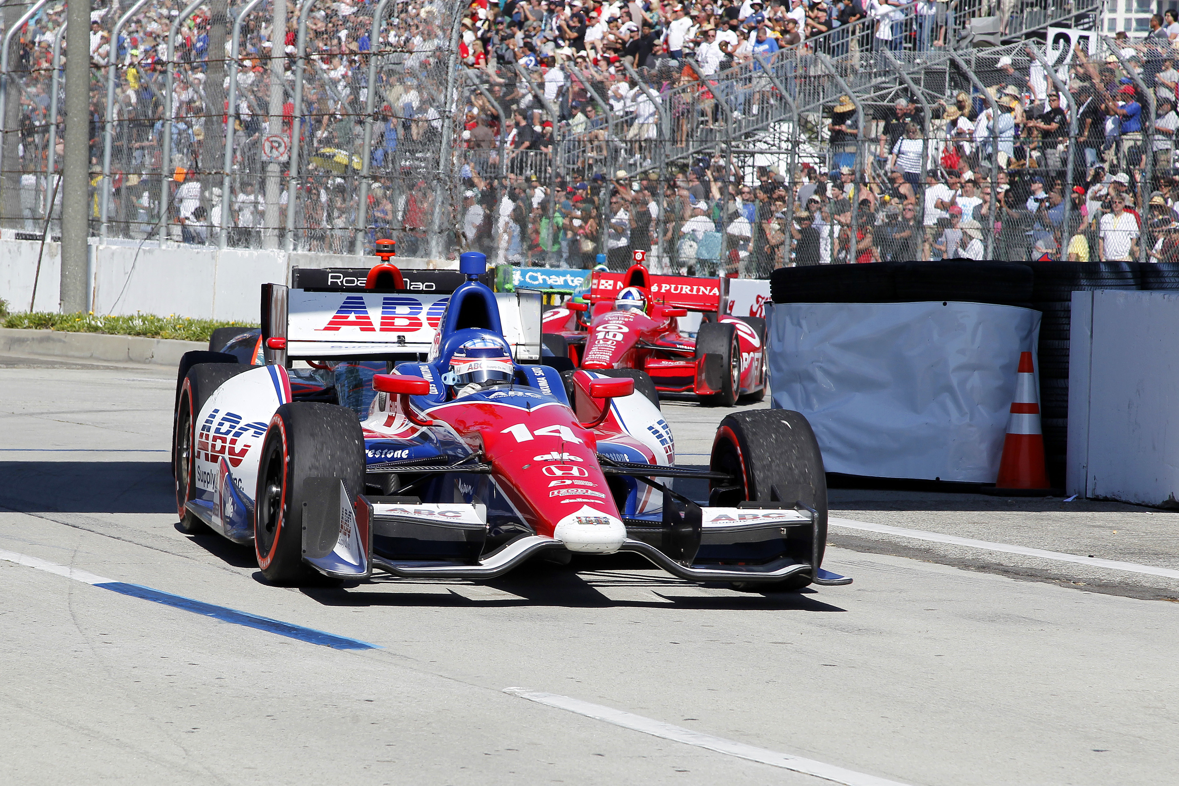
[[[599,566],[600,570],[605,566]],[[641,567],[641,566],[639,566]],[[647,566],[650,567],[650,566]],[[617,569],[617,568],[612,568]],[[400,584],[395,592],[374,592],[374,587]],[[439,592],[413,592],[409,587],[429,586],[444,587],[446,594]],[[472,589],[488,587],[493,590],[509,593],[515,597],[488,596],[479,597],[462,593],[463,587]],[[650,590],[651,600],[613,600],[602,589],[637,588]],[[584,574],[574,567],[561,567],[541,561],[520,566],[511,574],[486,582],[449,582],[411,579],[395,579],[376,575],[363,592],[349,592],[347,588],[303,588],[301,592],[324,606],[365,607],[365,606],[406,606],[416,608],[514,608],[514,607],[564,607],[564,608],[666,608],[672,610],[795,610],[795,612],[843,612],[845,609],[824,603],[815,597],[817,593],[804,589],[795,593],[765,592],[725,595],[683,595],[684,589],[696,584],[679,582],[664,574],[650,570],[643,573],[598,572]],[[729,589],[726,584],[710,586],[716,589]],[[457,589],[457,592],[456,592]]]

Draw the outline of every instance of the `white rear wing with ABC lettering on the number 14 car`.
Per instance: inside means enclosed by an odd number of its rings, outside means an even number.
[[[336,269],[337,271],[341,269]],[[322,272],[328,277],[321,276]],[[364,272],[368,271],[357,271]],[[292,280],[301,284],[321,282],[327,286],[286,288],[262,285],[262,338],[266,363],[286,364],[292,359],[422,359],[434,348],[439,323],[446,312],[453,285],[417,273],[452,271],[406,271],[407,286],[394,292],[357,288],[349,276],[330,278],[336,271],[299,271]],[[311,273],[311,276],[308,276]],[[455,273],[465,279],[461,273]],[[355,280],[355,278],[353,279]],[[414,290],[413,284],[433,284],[444,293]],[[500,292],[495,296],[503,337],[518,361],[540,359],[540,318],[544,296],[540,292]],[[282,338],[282,342],[271,342]],[[274,346],[271,346],[274,344]]]

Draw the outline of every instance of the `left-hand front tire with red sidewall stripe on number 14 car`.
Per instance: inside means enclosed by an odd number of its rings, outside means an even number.
[[[294,402],[270,418],[258,462],[253,549],[269,583],[322,584],[303,562],[303,504],[307,481],[338,477],[349,498],[364,491],[364,435],[347,407]]]

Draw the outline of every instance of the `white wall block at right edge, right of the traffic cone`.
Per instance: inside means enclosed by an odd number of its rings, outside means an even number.
[[[1069,494],[1144,504],[1179,494],[1179,292],[1073,292]]]

